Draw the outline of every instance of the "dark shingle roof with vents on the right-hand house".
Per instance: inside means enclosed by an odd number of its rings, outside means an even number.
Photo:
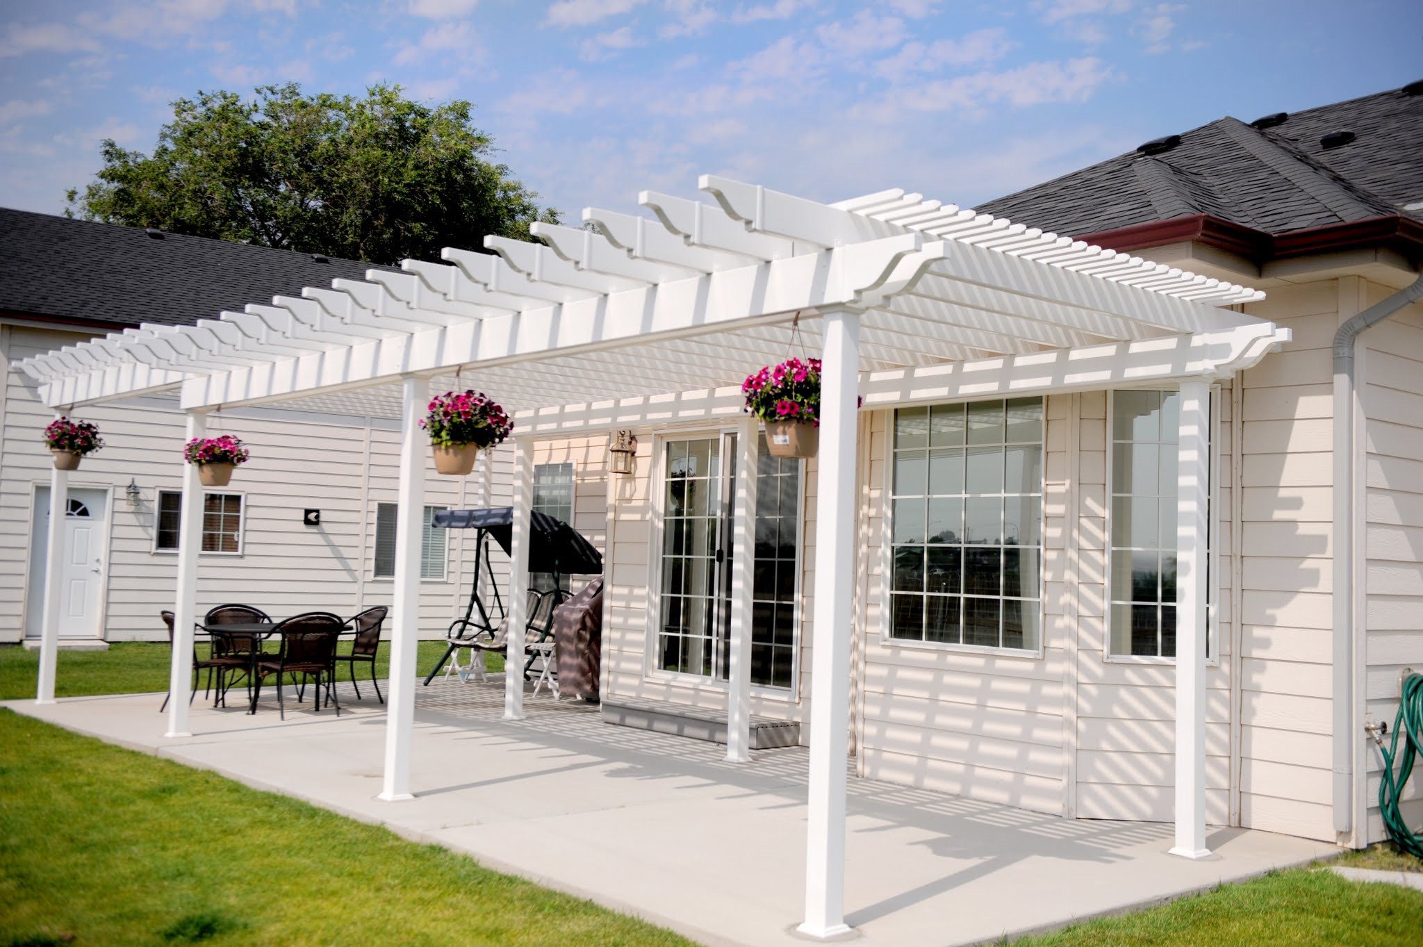
[[[1412,87],[1410,87],[1412,88]],[[1348,145],[1321,138],[1352,131]],[[1423,219],[1423,95],[1403,90],[1295,112],[1259,129],[1221,118],[1157,155],[1128,152],[980,210],[1067,236],[1205,213],[1265,233],[1389,215]]]

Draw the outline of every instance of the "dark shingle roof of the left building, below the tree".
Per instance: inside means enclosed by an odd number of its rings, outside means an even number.
[[[303,286],[364,279],[370,263],[0,208],[0,313],[179,326]],[[387,267],[380,267],[387,269]]]

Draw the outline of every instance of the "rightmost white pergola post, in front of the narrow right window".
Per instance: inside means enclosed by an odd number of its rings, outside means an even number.
[[[1211,390],[1181,382],[1175,501],[1175,846],[1205,847],[1205,573],[1210,540]]]

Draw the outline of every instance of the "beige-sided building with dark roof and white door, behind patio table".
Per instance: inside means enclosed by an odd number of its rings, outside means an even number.
[[[0,358],[9,367],[107,333],[216,320],[223,310],[300,296],[303,286],[360,280],[369,269],[356,260],[0,209]],[[260,313],[250,319],[248,331],[260,334]],[[70,488],[60,636],[67,647],[162,640],[158,610],[175,594],[182,412],[171,395],[152,394],[78,414],[100,424],[107,446],[84,461]],[[0,643],[34,643],[50,469],[40,431],[51,412],[33,381],[7,368],[0,417]],[[260,418],[239,410],[215,419],[215,429],[242,437],[260,462],[208,495],[202,609],[246,599],[235,590],[256,584],[262,593],[252,603],[273,614],[354,614],[390,604],[396,427],[359,410]],[[501,485],[495,489],[507,482],[491,479]],[[472,503],[477,483],[431,475],[428,512]],[[561,492],[566,488],[552,486],[549,502]],[[309,509],[319,510],[319,523],[305,522]],[[472,569],[465,546],[458,533],[425,530],[427,637],[462,614]]]

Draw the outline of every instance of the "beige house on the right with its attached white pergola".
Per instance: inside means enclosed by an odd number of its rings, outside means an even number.
[[[706,202],[643,192],[643,216],[282,303],[252,346],[157,328],[18,368],[51,410],[176,391],[191,431],[360,405],[397,422],[403,509],[425,502],[428,391],[478,378],[518,422],[515,559],[536,465],[572,465],[605,549],[605,705],[724,714],[733,761],[751,715],[800,724],[807,933],[844,930],[847,754],[872,779],[1174,820],[1187,857],[1207,823],[1360,846],[1363,725],[1423,661],[1417,92],[1221,119],[986,213],[707,175]],[[801,350],[825,360],[820,452],[773,461],[739,382]],[[404,520],[388,801],[411,785],[420,542]],[[518,630],[528,577],[509,584]],[[522,702],[511,681],[508,719]]]

